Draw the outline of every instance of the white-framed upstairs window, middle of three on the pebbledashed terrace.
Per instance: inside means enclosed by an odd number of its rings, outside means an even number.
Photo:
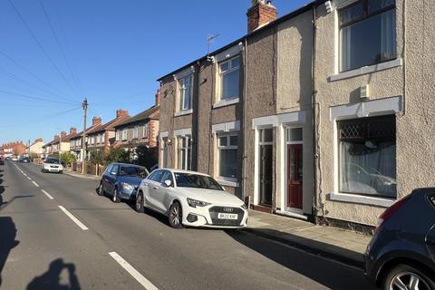
[[[219,63],[220,100],[236,99],[239,95],[240,59]]]

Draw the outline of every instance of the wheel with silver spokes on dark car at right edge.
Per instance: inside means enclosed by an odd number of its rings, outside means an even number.
[[[419,266],[398,265],[391,269],[383,281],[384,290],[402,288],[414,289],[418,285],[421,290],[435,290],[435,281]]]

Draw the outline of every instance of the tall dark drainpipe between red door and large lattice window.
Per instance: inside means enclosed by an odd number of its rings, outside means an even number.
[[[317,161],[319,159],[318,152],[317,152],[317,130],[316,130],[316,120],[315,120],[315,95],[317,93],[315,88],[315,38],[316,38],[316,30],[317,30],[317,23],[316,23],[316,15],[315,15],[315,8],[316,6],[313,6],[313,51],[311,55],[312,59],[312,72],[311,72],[311,80],[312,80],[312,100],[311,100],[311,106],[312,106],[312,123],[313,123],[313,152],[314,152],[314,158],[313,158],[313,170],[314,170],[314,198],[313,198],[313,218],[314,222],[317,220]]]

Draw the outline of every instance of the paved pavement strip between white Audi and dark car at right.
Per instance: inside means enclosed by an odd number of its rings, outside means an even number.
[[[337,227],[318,226],[296,218],[249,210],[247,232],[314,255],[362,268],[371,236]]]

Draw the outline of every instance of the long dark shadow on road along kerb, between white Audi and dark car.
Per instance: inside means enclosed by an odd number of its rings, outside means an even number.
[[[245,247],[330,289],[372,289],[362,275],[362,270],[357,268],[314,256],[296,248],[285,247],[244,233],[243,230],[227,230],[226,232],[229,237]]]

